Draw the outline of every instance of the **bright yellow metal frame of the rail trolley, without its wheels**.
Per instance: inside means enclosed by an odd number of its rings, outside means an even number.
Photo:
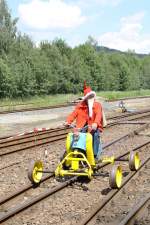
[[[86,133],[86,156],[78,150],[71,149],[71,138],[73,133],[68,133],[66,138],[66,157],[58,164],[55,170],[55,176],[87,176],[92,178],[95,167],[93,153],[92,135]],[[114,164],[114,156],[104,156],[102,162]],[[81,169],[80,164],[84,162],[85,167]],[[68,167],[64,169],[63,166]],[[118,175],[119,176],[119,175]]]

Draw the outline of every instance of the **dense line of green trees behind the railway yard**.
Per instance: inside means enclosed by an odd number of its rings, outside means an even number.
[[[0,98],[78,93],[83,81],[95,91],[150,89],[150,55],[106,52],[88,40],[71,48],[62,39],[38,47],[16,28],[0,1]]]

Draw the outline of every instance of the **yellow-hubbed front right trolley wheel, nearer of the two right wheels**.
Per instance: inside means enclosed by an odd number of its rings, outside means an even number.
[[[112,167],[109,184],[111,188],[120,188],[122,184],[122,168],[119,165],[114,165]]]

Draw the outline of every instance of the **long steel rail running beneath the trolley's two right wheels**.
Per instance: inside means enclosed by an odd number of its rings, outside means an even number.
[[[137,171],[134,171],[132,172],[131,171],[131,174],[128,175],[126,177],[126,179],[124,180],[122,186],[120,187],[120,189],[117,189],[117,190],[111,190],[108,194],[108,196],[106,197],[106,199],[104,200],[101,200],[101,203],[100,204],[97,204],[94,208],[92,207],[90,212],[88,214],[86,214],[86,216],[81,220],[81,222],[79,223],[76,223],[77,225],[86,225],[88,224],[89,222],[93,222],[95,217],[97,216],[97,214],[104,208],[105,205],[107,205],[110,200],[118,193],[120,192],[120,190],[122,190],[122,188],[132,179],[133,176],[135,176],[135,174],[137,172],[139,172],[143,166],[148,163],[148,161],[150,160],[150,157],[148,157],[139,167],[139,169]]]

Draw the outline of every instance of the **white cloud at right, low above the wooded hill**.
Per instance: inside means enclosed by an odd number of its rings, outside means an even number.
[[[123,17],[118,32],[107,32],[98,38],[98,43],[122,51],[135,50],[138,53],[150,52],[150,34],[142,33],[144,12]]]

